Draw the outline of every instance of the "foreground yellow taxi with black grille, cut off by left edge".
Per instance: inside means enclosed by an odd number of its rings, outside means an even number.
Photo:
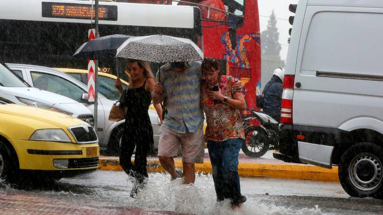
[[[0,98],[0,121],[0,179],[60,179],[98,168],[97,135],[80,119]]]

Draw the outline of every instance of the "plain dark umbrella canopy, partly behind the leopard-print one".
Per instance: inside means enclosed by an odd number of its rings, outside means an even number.
[[[80,46],[73,57],[84,59],[109,59],[117,54],[117,48],[132,36],[113,34],[90,40]]]

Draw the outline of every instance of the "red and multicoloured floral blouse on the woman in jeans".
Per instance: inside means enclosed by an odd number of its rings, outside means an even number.
[[[221,76],[219,88],[224,96],[232,98],[235,91],[232,85],[235,83],[231,76]],[[201,86],[201,102],[206,114],[205,139],[211,141],[224,141],[233,138],[244,139],[243,121],[238,109],[230,108],[227,104],[219,102],[214,104],[208,97],[209,87],[207,83]]]

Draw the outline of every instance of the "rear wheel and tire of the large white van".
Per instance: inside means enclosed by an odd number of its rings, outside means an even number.
[[[361,142],[343,153],[338,175],[343,189],[352,197],[383,198],[383,148]]]

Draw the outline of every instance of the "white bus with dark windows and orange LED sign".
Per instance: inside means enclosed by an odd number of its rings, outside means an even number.
[[[88,41],[92,2],[0,0],[1,61],[86,69],[87,60],[72,55]],[[99,15],[100,36],[165,34],[203,46],[198,7],[100,1]],[[115,74],[114,59],[100,60],[99,67]]]

